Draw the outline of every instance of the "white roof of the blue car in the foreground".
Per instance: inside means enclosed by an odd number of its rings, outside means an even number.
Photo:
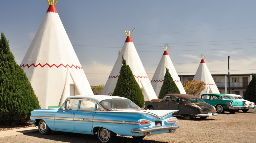
[[[77,99],[77,98],[90,99],[90,100],[96,101],[97,103],[100,103],[102,100],[106,100],[106,99],[127,99],[120,96],[108,96],[108,95],[75,95],[75,96],[67,97],[67,99]]]

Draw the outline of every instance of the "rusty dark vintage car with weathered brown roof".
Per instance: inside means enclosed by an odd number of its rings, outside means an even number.
[[[184,119],[191,119],[191,117],[205,119],[218,115],[214,106],[205,103],[197,96],[188,94],[166,94],[163,99],[145,101],[145,108],[148,110],[179,110],[173,115],[183,116]]]

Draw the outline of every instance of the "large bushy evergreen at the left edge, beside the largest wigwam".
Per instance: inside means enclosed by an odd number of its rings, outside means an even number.
[[[29,120],[30,112],[39,109],[38,99],[26,73],[16,63],[9,40],[0,39],[0,124],[15,125]]]

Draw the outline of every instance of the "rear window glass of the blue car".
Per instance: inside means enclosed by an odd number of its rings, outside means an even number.
[[[131,110],[141,108],[129,99],[107,99],[100,102],[107,110]]]

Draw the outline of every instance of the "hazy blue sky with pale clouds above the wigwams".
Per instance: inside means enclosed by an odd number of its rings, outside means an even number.
[[[55,2],[55,1],[54,1]],[[163,46],[178,75],[256,73],[255,0],[58,0],[55,7],[91,86],[106,84],[131,39],[149,79]],[[0,31],[20,65],[49,7],[47,0],[1,1]]]

